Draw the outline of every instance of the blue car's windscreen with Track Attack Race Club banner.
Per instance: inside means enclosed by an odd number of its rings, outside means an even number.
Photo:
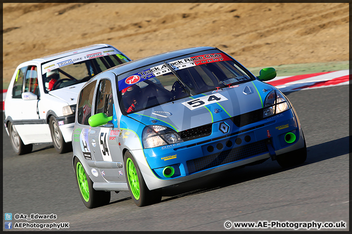
[[[118,77],[123,112],[133,113],[254,79],[223,53],[201,54],[157,64]]]

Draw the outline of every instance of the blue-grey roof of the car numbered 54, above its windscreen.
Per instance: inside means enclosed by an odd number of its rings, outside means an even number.
[[[137,69],[139,67],[144,67],[148,64],[153,64],[155,62],[165,61],[168,59],[173,59],[187,54],[197,53],[197,52],[206,51],[206,50],[214,50],[214,49],[217,49],[217,48],[211,47],[211,46],[199,46],[199,47],[191,47],[187,49],[174,50],[174,51],[165,52],[162,54],[153,55],[142,59],[136,59],[130,62],[126,62],[116,67],[110,68],[108,69],[108,71],[111,71],[118,76],[125,72]]]

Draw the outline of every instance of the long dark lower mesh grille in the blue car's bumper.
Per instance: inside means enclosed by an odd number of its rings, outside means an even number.
[[[187,161],[190,174],[267,152],[265,140]]]

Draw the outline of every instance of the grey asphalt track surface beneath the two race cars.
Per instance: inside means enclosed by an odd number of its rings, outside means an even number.
[[[87,209],[76,186],[72,152],[59,155],[52,145],[42,144],[35,145],[31,154],[17,156],[3,130],[3,215],[54,214],[54,220],[13,218],[12,222],[69,222],[69,229],[60,231],[239,230],[226,229],[225,221],[344,221],[347,228],[339,230],[348,231],[349,87],[286,95],[305,133],[308,158],[304,164],[282,169],[268,159],[260,165],[164,189],[160,203],[141,208],[133,203],[129,192],[112,192],[109,205]],[[332,230],[338,229],[320,231]]]

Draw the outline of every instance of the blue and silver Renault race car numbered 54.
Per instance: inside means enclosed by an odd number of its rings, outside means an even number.
[[[161,189],[268,158],[303,163],[307,147],[292,104],[215,47],[138,59],[90,79],[79,93],[73,168],[88,208],[130,191],[137,206]]]

